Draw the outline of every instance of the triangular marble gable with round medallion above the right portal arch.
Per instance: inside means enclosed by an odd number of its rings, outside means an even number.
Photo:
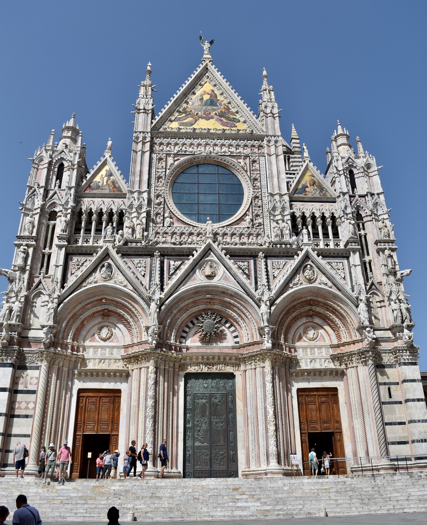
[[[351,304],[357,304],[351,290],[309,247],[305,247],[292,264],[286,266],[281,277],[276,280],[271,295],[277,299],[286,291],[310,285],[338,291]]]

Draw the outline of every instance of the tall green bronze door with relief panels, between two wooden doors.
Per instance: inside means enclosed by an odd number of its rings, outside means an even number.
[[[186,374],[184,395],[185,477],[237,477],[234,375]]]

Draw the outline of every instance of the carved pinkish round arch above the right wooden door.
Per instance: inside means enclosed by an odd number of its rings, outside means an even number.
[[[352,304],[333,290],[304,286],[286,292],[274,303],[271,324],[276,326],[276,339],[294,344],[295,333],[303,327],[303,318],[307,316],[313,316],[314,324],[323,328],[323,344],[359,338],[358,314]]]

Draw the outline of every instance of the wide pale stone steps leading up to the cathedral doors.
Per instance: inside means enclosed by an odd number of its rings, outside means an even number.
[[[78,479],[64,486],[35,478],[0,478],[0,504],[15,509],[23,493],[41,519],[104,521],[116,506],[121,521],[301,518],[427,511],[427,473],[247,479]]]

